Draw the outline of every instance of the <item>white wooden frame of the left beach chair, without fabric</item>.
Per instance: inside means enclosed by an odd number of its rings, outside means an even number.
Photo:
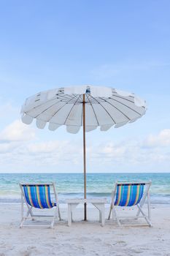
[[[51,183],[41,183],[41,184],[37,184],[37,183],[20,183],[20,190],[21,190],[21,222],[20,222],[20,228],[21,227],[51,227],[53,228],[54,224],[55,224],[55,220],[59,219],[61,220],[61,213],[60,213],[60,208],[59,208],[59,203],[58,203],[58,195],[55,189],[55,183],[51,182]],[[26,195],[23,191],[23,185],[49,185],[52,189],[53,189],[53,194],[55,196],[55,203],[56,206],[55,210],[54,210],[54,214],[53,215],[41,215],[41,214],[34,214],[33,209],[34,207],[30,206],[27,203],[26,200]],[[52,193],[50,193],[51,195]],[[24,215],[24,203],[26,203],[26,206],[28,208],[28,211],[26,212],[26,215]],[[37,208],[36,208],[37,209]],[[41,208],[39,208],[39,210],[42,210]],[[35,220],[35,217],[42,217],[42,218],[51,218],[52,221],[50,222],[50,225],[24,225],[24,222],[26,222],[27,219],[32,219]]]

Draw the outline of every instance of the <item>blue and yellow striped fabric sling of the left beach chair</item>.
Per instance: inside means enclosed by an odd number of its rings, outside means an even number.
[[[53,208],[56,203],[51,202],[50,186],[52,184],[20,184],[26,203],[34,208]]]

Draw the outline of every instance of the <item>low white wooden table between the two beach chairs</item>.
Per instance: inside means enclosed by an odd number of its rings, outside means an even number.
[[[105,208],[104,204],[107,203],[107,199],[105,198],[89,198],[89,199],[67,199],[66,203],[68,204],[68,225],[69,227],[72,225],[72,212],[80,203],[91,203],[95,206],[99,211],[99,222],[101,222],[101,226],[104,226],[104,214]]]

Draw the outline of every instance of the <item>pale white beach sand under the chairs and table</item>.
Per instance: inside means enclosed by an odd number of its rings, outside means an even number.
[[[54,229],[23,227],[20,204],[0,205],[0,256],[6,255],[170,255],[170,206],[152,205],[153,227],[118,227],[112,220],[98,223],[98,211],[88,209],[88,222],[81,221],[83,209],[77,208],[75,222],[67,226],[67,208],[61,206],[61,222]],[[106,208],[106,217],[109,208]],[[125,216],[135,209],[119,211]],[[139,220],[143,222],[143,220]],[[36,223],[36,222],[34,222]],[[39,222],[40,223],[40,222]]]

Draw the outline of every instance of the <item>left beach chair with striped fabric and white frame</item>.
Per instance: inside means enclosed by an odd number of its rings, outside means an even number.
[[[61,214],[58,203],[58,195],[55,190],[54,183],[47,184],[21,184],[21,222],[20,227],[23,226],[32,226],[32,225],[23,225],[26,219],[34,220],[35,217],[44,217],[44,218],[52,218],[52,222],[50,223],[50,227],[53,227],[55,223],[55,219],[61,220]],[[53,190],[53,193],[51,192]],[[52,195],[54,195],[53,200]],[[28,208],[26,216],[24,216],[24,203]],[[55,211],[53,215],[40,215],[34,214],[33,209],[51,209],[55,207]],[[34,225],[35,226],[35,225]],[[48,226],[48,225],[41,225]]]

